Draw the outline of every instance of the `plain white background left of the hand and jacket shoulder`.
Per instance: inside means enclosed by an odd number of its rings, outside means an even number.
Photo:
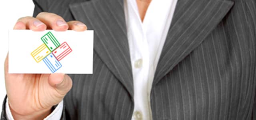
[[[6,95],[4,84],[4,60],[8,52],[8,29],[12,29],[18,18],[32,16],[32,0],[2,0],[0,4],[0,111]],[[15,84],[15,83],[14,83]]]

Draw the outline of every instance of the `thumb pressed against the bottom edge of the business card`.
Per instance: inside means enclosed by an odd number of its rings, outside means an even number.
[[[66,94],[72,87],[70,76],[62,73],[50,74],[48,83],[53,88],[56,88],[60,94]]]

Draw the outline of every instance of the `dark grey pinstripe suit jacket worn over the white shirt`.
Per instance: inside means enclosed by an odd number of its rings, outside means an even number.
[[[131,120],[134,91],[123,0],[34,4],[34,16],[53,12],[95,30],[94,74],[70,75],[74,85],[64,98],[62,118]],[[178,0],[150,94],[153,119],[255,120],[255,69],[255,0]]]

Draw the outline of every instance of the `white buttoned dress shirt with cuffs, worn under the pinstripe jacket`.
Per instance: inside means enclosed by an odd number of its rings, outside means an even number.
[[[124,0],[124,13],[134,83],[132,120],[152,120],[150,92],[154,73],[168,33],[177,0],[152,0],[142,23],[136,0]],[[44,120],[59,120],[63,101]],[[6,102],[8,120],[13,120]]]

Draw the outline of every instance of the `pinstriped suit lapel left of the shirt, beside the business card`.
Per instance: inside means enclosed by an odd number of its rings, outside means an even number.
[[[133,98],[132,67],[123,0],[92,0],[71,4],[76,20],[94,30],[94,50]]]

